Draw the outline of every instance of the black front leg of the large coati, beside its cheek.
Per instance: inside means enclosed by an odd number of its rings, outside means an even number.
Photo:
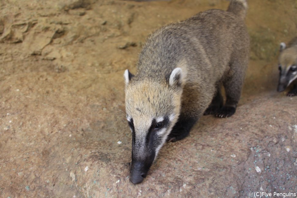
[[[190,130],[196,123],[198,118],[188,117],[181,114],[179,120],[175,123],[170,134],[167,137],[168,142],[176,142],[189,135]]]

